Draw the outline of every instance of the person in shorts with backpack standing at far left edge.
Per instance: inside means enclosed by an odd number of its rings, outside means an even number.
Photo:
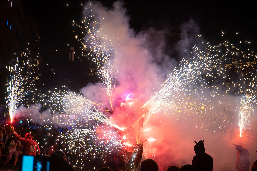
[[[19,143],[19,140],[16,140],[15,141],[15,138],[14,137],[10,137],[9,139],[8,139],[8,141],[6,142],[6,145],[7,145],[7,147],[8,147],[8,156],[7,156],[7,160],[5,161],[5,163],[4,163],[4,165],[3,165],[3,168],[5,168],[5,164],[9,161],[9,160],[11,160],[11,157],[12,157],[12,155],[14,154],[14,158],[15,158],[15,160],[14,160],[14,166],[13,166],[13,168],[18,168],[18,166],[16,166],[16,163],[17,163],[17,160],[18,160],[18,152],[17,152],[17,150],[16,150],[16,146],[18,145],[18,143]]]

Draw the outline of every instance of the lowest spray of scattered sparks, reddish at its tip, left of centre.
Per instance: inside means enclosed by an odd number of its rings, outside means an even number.
[[[83,163],[83,160],[88,159],[91,155],[98,156],[105,162],[104,158],[112,150],[132,146],[124,141],[116,131],[112,131],[109,126],[97,126],[96,130],[76,129],[60,134],[58,139],[67,144],[63,150],[68,150],[76,156],[73,157],[77,160],[74,166],[77,163]]]

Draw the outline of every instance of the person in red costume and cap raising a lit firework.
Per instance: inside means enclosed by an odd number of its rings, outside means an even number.
[[[36,156],[40,154],[39,146],[36,141],[32,140],[31,133],[27,132],[25,138],[21,138],[21,136],[14,131],[13,126],[11,126],[10,130],[13,132],[15,137],[23,144],[23,155]]]

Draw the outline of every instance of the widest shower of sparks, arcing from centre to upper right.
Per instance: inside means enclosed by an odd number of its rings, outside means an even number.
[[[217,113],[218,111],[226,111],[227,109],[232,111],[232,108],[230,109],[228,106],[222,107],[222,105],[217,106],[215,103],[210,102],[215,99],[215,96],[220,96],[219,84],[228,87],[226,92],[230,92],[229,86],[234,83],[224,84],[219,80],[219,78],[228,78],[226,74],[227,69],[234,65],[238,68],[255,65],[255,62],[240,63],[242,61],[237,61],[237,59],[235,59],[234,64],[228,65],[226,61],[232,60],[231,56],[254,60],[256,59],[256,55],[253,55],[253,52],[249,49],[243,52],[228,41],[224,41],[224,43],[218,46],[211,46],[207,43],[207,46],[208,48],[201,50],[195,45],[191,52],[192,57],[187,60],[183,59],[179,67],[175,68],[174,72],[169,75],[161,89],[155,92],[145,103],[142,108],[147,108],[148,111],[143,113],[139,118],[145,118],[144,125],[152,120],[156,114],[160,114],[161,112],[165,113],[166,116],[172,113],[182,116],[183,113],[187,113],[189,118],[194,117],[196,121],[200,121],[196,119],[199,117],[201,117],[201,120],[207,120],[208,118],[212,122],[208,121],[207,126],[217,123],[217,120],[220,119],[233,119],[233,113],[231,113],[232,116],[225,116],[223,112],[221,115]],[[243,73],[241,74],[244,76]],[[250,71],[245,75],[246,77],[253,77]],[[210,94],[210,96],[207,97],[206,94]],[[220,108],[220,110],[213,111],[214,106]],[[232,107],[236,108],[236,106]],[[206,112],[210,113],[207,117],[201,115]],[[218,124],[216,126],[219,129],[224,127]]]

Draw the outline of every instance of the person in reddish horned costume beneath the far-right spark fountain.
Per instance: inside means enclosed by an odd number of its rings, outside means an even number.
[[[248,150],[242,145],[234,145],[236,146],[235,149],[237,150],[236,169],[238,169],[238,171],[249,171],[250,161]]]

